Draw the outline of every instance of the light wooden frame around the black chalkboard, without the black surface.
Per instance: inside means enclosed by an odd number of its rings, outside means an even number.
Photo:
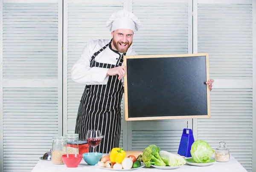
[[[209,54],[208,53],[198,53],[198,54],[161,54],[161,55],[130,55],[124,56],[124,66],[127,66],[127,59],[136,59],[136,58],[161,58],[161,57],[197,57],[205,56],[206,58],[206,80],[209,80]],[[126,67],[127,69],[127,67]],[[138,117],[138,118],[129,118],[128,116],[128,85],[127,85],[127,73],[126,71],[124,77],[124,89],[125,89],[125,120],[166,120],[166,119],[186,119],[186,118],[210,118],[210,90],[209,85],[207,84],[207,115],[186,115],[186,116],[157,116],[157,117]]]

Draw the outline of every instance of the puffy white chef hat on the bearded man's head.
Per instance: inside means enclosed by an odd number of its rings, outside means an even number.
[[[140,28],[140,20],[131,12],[122,9],[112,14],[107,21],[106,27],[111,32],[116,29],[131,29],[135,32]]]

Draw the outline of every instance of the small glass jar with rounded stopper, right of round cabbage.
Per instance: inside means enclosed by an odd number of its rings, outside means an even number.
[[[229,149],[225,147],[225,142],[221,141],[220,147],[218,147],[215,151],[215,160],[218,162],[228,162],[230,161],[230,152]]]

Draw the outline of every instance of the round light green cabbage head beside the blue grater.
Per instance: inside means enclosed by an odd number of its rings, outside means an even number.
[[[206,141],[196,140],[191,146],[190,153],[195,162],[208,163],[214,150]]]

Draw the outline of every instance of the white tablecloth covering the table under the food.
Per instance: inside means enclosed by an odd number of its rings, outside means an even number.
[[[135,170],[135,171],[134,171]],[[155,171],[170,171],[170,172],[247,172],[241,164],[236,161],[232,156],[230,161],[227,163],[215,162],[210,166],[190,166],[183,165],[177,169],[156,169],[153,167],[150,168],[140,168],[134,169],[132,172],[155,172]],[[67,168],[66,165],[54,165],[51,161],[39,160],[37,165],[34,167],[32,172],[113,172],[113,170],[102,169],[97,166],[89,166],[82,159],[81,163],[77,168]]]

